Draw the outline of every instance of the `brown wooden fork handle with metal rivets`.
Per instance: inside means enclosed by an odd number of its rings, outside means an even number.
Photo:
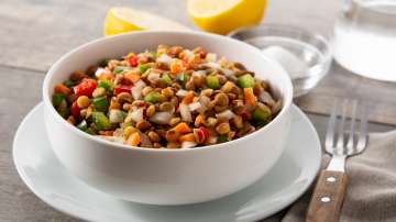
[[[306,222],[339,221],[345,191],[345,173],[322,170],[308,207]]]

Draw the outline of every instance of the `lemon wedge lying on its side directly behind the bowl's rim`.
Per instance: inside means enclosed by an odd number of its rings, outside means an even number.
[[[190,31],[172,20],[131,8],[112,8],[105,19],[105,35],[142,30]]]

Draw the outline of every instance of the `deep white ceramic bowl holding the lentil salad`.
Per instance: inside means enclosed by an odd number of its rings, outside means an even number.
[[[158,44],[201,46],[244,64],[257,77],[267,79],[282,97],[280,113],[265,127],[232,142],[191,149],[151,149],[88,135],[68,124],[53,108],[54,86],[66,80],[72,71],[86,69],[103,58],[155,49]],[[94,188],[151,204],[209,201],[260,179],[278,159],[287,142],[292,98],[287,73],[258,49],[229,37],[198,32],[138,32],[90,42],[57,60],[43,86],[46,130],[63,165]]]

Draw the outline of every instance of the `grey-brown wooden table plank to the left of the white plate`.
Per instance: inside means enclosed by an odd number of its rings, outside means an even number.
[[[41,100],[44,75],[0,67],[0,221],[76,221],[37,199],[18,176],[12,140],[23,116]]]

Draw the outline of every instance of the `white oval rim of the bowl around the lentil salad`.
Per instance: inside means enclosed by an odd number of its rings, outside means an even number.
[[[140,146],[130,146],[130,145],[125,145],[125,144],[119,144],[116,142],[111,142],[111,141],[107,141],[103,138],[100,138],[98,136],[94,136],[90,135],[88,133],[85,133],[80,130],[78,130],[76,126],[70,125],[69,123],[67,123],[67,121],[65,119],[63,119],[55,110],[55,108],[52,106],[51,102],[51,93],[50,93],[50,81],[53,78],[53,76],[56,74],[56,70],[58,69],[58,66],[61,66],[62,63],[64,63],[64,60],[66,60],[68,57],[73,56],[75,53],[101,43],[101,42],[112,42],[112,41],[119,41],[122,40],[124,37],[128,36],[135,36],[135,35],[167,35],[167,34],[175,34],[175,35],[194,35],[194,36],[201,36],[201,37],[209,37],[209,38],[217,38],[220,41],[227,41],[229,43],[232,44],[240,44],[243,45],[244,47],[246,47],[249,51],[252,52],[252,54],[255,54],[255,56],[261,57],[262,59],[271,63],[273,66],[275,66],[277,69],[279,69],[279,74],[282,76],[282,85],[285,85],[285,92],[283,92],[280,96],[283,98],[283,108],[280,110],[280,112],[275,116],[274,120],[272,120],[268,124],[266,124],[265,126],[261,127],[260,130],[245,135],[243,137],[240,137],[238,140],[234,141],[229,141],[226,143],[221,143],[221,144],[212,144],[212,145],[207,145],[207,146],[197,146],[195,148],[147,148],[147,147],[140,147]],[[160,43],[158,43],[160,44]],[[238,41],[235,38],[231,38],[231,37],[227,37],[227,36],[222,36],[222,35],[218,35],[218,34],[211,34],[211,33],[204,33],[204,32],[198,32],[198,31],[189,31],[189,32],[185,32],[185,31],[141,31],[141,32],[131,32],[131,33],[123,33],[123,34],[119,34],[119,35],[113,35],[113,36],[106,36],[106,37],[99,37],[96,38],[94,41],[90,41],[88,43],[85,43],[82,45],[79,45],[77,47],[75,47],[74,49],[69,51],[68,53],[64,54],[61,58],[58,58],[48,69],[48,71],[45,75],[44,81],[43,81],[43,87],[42,87],[42,95],[43,95],[43,101],[44,101],[44,106],[47,108],[46,110],[50,111],[51,115],[61,124],[63,124],[64,126],[66,126],[66,129],[68,129],[68,131],[70,131],[70,133],[74,133],[80,137],[84,137],[87,141],[92,141],[102,145],[107,145],[107,146],[112,146],[111,148],[120,148],[120,149],[128,149],[128,151],[135,151],[135,152],[151,152],[151,153],[183,153],[183,152],[200,152],[200,151],[207,151],[207,149],[212,149],[212,148],[218,148],[220,146],[228,146],[231,143],[242,143],[242,142],[246,142],[249,140],[254,138],[255,136],[257,136],[260,133],[264,133],[266,131],[270,131],[273,125],[275,125],[276,123],[278,123],[280,121],[280,119],[283,119],[287,112],[290,110],[292,103],[293,103],[293,85],[292,85],[292,79],[289,78],[287,71],[274,59],[263,55],[260,49],[255,48],[252,45],[249,45],[248,43],[244,43],[242,41]],[[223,147],[224,148],[224,147]]]

